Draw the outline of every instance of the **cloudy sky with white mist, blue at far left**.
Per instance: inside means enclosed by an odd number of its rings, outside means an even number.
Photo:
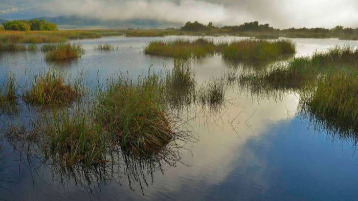
[[[0,18],[78,15],[100,19],[152,19],[275,28],[358,27],[358,0],[0,0]]]

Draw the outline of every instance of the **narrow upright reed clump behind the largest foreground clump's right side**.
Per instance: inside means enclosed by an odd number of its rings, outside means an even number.
[[[190,63],[174,59],[174,68],[166,72],[166,94],[169,102],[175,106],[183,106],[195,101],[195,73]]]

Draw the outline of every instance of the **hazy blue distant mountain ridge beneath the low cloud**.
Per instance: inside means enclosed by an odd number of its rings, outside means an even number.
[[[33,19],[43,19],[50,23],[55,23],[61,28],[70,27],[106,27],[106,28],[168,28],[180,27],[181,24],[167,21],[157,21],[150,19],[130,19],[130,20],[102,20],[96,18],[85,18],[80,16],[58,16],[58,17],[37,17]]]

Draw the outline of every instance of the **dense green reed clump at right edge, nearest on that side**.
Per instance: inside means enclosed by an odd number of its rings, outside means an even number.
[[[358,122],[358,74],[337,72],[319,78],[301,93],[303,109],[321,117]]]

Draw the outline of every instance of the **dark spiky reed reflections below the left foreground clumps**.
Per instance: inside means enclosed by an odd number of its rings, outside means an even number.
[[[61,183],[66,192],[70,193],[70,186],[76,185],[92,196],[99,193],[102,184],[121,185],[123,182],[127,182],[133,191],[139,187],[144,194],[145,188],[154,183],[156,172],[164,174],[166,167],[176,167],[177,163],[185,164],[182,155],[184,151],[190,151],[185,144],[197,141],[192,132],[181,130],[177,131],[176,137],[169,144],[152,154],[138,155],[117,146],[107,150],[106,163],[63,166],[57,160],[57,153],[49,155],[51,153],[43,152],[42,146],[46,145],[42,144],[43,141],[34,132],[28,132],[24,127],[10,129],[11,133],[7,132],[6,135],[7,140],[19,156],[26,156],[20,157],[20,161],[28,166],[31,174],[37,174],[41,169],[50,169],[53,179]],[[0,180],[2,182],[8,181]],[[36,185],[34,181],[33,183]]]

